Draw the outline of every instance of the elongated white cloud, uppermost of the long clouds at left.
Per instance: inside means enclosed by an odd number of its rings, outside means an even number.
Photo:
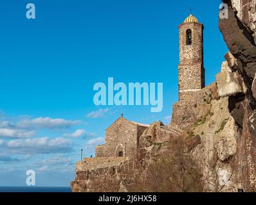
[[[80,124],[79,120],[65,120],[65,119],[51,119],[50,117],[39,117],[36,119],[26,119],[19,122],[19,127],[24,128],[48,128],[48,129],[58,129],[58,128],[69,128],[71,126],[76,126]]]

